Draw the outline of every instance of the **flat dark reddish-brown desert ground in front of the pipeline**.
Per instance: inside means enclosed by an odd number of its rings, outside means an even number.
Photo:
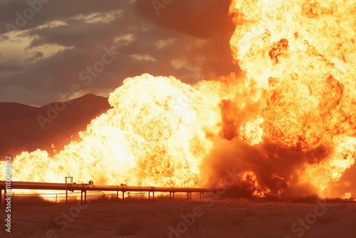
[[[14,203],[0,237],[356,237],[356,203],[120,200]]]

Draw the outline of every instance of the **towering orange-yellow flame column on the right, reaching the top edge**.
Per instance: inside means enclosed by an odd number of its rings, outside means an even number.
[[[356,140],[347,136],[356,132],[355,10],[353,1],[234,0],[230,6],[237,25],[231,48],[259,91],[256,114],[268,138],[305,152],[319,145],[334,150],[299,170],[299,182],[320,195],[355,162]]]

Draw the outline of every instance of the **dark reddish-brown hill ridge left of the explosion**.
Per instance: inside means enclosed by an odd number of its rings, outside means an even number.
[[[57,151],[62,150],[92,119],[110,108],[108,98],[93,94],[39,108],[0,103],[0,160],[37,149],[53,155],[52,144]]]

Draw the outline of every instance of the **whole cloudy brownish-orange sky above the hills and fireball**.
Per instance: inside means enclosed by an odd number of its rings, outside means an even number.
[[[108,96],[145,72],[184,83],[239,73],[230,0],[161,1],[0,0],[0,102]]]

